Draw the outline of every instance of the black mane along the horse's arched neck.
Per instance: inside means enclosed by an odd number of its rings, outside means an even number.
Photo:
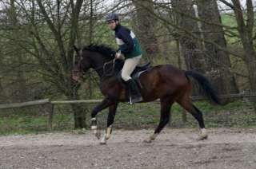
[[[89,50],[91,52],[101,53],[102,56],[114,59],[115,50],[106,45],[90,44],[83,47],[82,50]]]

